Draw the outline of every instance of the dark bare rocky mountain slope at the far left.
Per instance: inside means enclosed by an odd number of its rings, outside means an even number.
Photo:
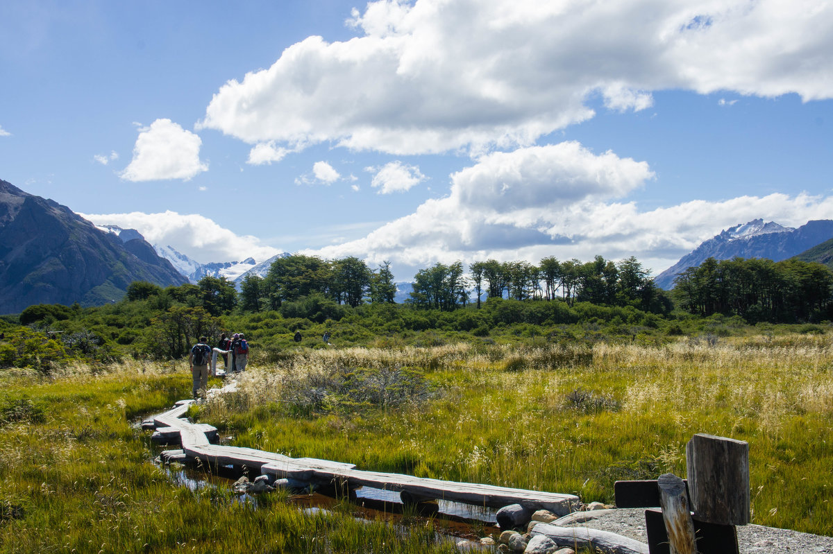
[[[0,180],[0,314],[32,304],[105,304],[140,280],[185,282],[138,233],[102,232],[67,206]]]

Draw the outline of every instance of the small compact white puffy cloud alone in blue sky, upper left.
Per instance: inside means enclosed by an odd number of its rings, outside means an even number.
[[[190,180],[208,171],[200,161],[202,140],[169,119],[157,119],[140,127],[133,159],[119,176],[127,181]]]

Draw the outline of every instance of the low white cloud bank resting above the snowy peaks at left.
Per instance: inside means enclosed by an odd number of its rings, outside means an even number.
[[[152,245],[171,245],[192,260],[203,264],[217,261],[241,261],[252,256],[257,261],[267,260],[280,250],[262,245],[250,235],[236,235],[217,225],[213,220],[197,214],[178,214],[164,211],[146,214],[79,214],[95,225],[118,225],[135,229]]]

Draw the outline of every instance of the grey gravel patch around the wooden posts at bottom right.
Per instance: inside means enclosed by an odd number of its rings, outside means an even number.
[[[648,542],[644,508],[616,508],[576,512],[561,517],[561,519],[553,522],[553,525],[590,527],[614,532],[639,542]],[[761,525],[738,526],[737,542],[741,554],[781,554],[783,552],[833,554],[833,537],[811,535],[810,533],[777,529],[776,527],[763,527]]]

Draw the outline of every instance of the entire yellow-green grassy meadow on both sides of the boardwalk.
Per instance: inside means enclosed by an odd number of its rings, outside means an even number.
[[[833,535],[829,334],[663,344],[288,348],[192,416],[233,444],[613,502],[613,482],[685,476],[694,433],[750,444],[752,522]],[[135,423],[190,394],[184,362],[0,371],[3,552],[453,552],[434,522],[257,508],[176,487]],[[212,381],[213,386],[220,382]]]

